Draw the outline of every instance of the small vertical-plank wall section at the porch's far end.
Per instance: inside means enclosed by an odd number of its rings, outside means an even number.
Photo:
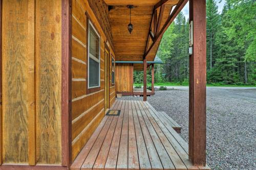
[[[116,64],[116,91],[133,92],[133,64]]]

